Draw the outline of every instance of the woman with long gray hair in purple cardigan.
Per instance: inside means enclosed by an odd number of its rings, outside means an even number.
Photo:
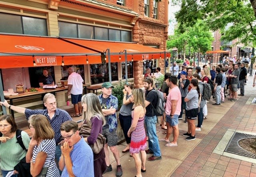
[[[88,93],[82,96],[82,106],[84,108],[83,119],[84,124],[91,128],[90,136],[84,138],[88,144],[94,144],[99,134],[102,134],[102,126],[106,124],[98,97],[94,93]],[[84,125],[83,125],[84,126]],[[102,173],[106,170],[104,147],[95,154],[94,157],[94,176],[102,177]]]

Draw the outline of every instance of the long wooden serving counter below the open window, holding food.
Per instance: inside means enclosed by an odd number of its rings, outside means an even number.
[[[87,85],[83,84],[83,88],[84,88],[84,93],[87,93]],[[37,92],[24,92],[24,93],[19,93],[18,95],[10,95],[10,96],[4,96],[4,99],[6,100],[10,100],[10,104],[13,105],[13,100],[16,99],[20,99],[20,98],[26,98],[26,97],[30,97],[30,96],[36,96],[36,95],[42,95],[42,94],[46,94],[46,93],[53,93],[55,94],[55,92],[61,92],[61,91],[65,91],[68,90],[68,88],[66,87],[57,87],[55,89],[44,89],[43,91],[37,91]],[[14,117],[14,111],[10,110],[12,116]]]

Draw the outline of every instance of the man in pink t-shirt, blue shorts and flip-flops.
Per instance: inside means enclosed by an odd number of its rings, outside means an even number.
[[[178,146],[177,140],[179,136],[179,128],[178,128],[178,117],[181,111],[181,93],[180,89],[177,86],[177,77],[170,76],[166,79],[167,85],[169,88],[169,94],[166,100],[166,125],[167,125],[167,134],[165,138],[160,139],[160,142],[166,142],[165,146],[167,147],[174,147]],[[173,140],[172,142],[169,141],[170,135],[172,134],[173,130]]]

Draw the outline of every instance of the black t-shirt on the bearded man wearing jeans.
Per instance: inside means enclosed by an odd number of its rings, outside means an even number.
[[[154,88],[152,90],[155,90]],[[157,93],[156,91],[152,91],[152,90],[146,90],[146,94],[145,94],[145,97],[146,97],[146,100],[148,102],[151,102],[153,104],[153,106],[156,108],[156,104],[157,104]],[[152,115],[152,111],[153,111],[153,108],[152,108],[152,105],[149,104],[147,107],[146,107],[146,116],[148,117],[153,117]]]

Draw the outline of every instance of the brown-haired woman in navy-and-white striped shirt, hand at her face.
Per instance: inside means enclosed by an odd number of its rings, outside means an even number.
[[[30,162],[31,175],[38,176],[43,168],[48,168],[45,170],[46,177],[60,177],[54,161],[56,151],[54,131],[48,119],[42,114],[34,114],[29,117],[28,123],[32,139],[28,146],[26,161]]]

